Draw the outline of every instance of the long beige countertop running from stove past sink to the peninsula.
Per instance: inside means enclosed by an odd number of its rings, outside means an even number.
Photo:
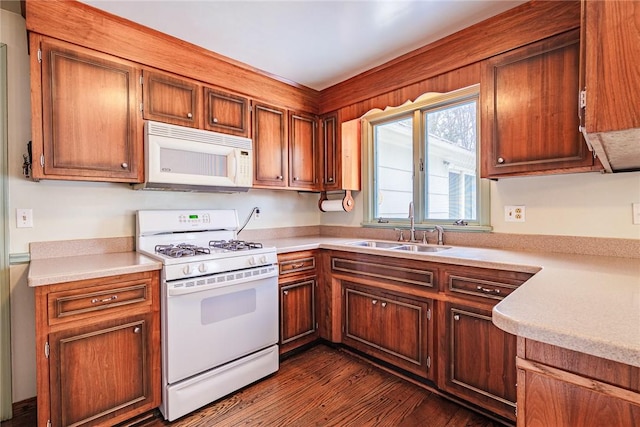
[[[493,309],[511,334],[640,367],[640,259],[457,247],[415,253],[349,246],[358,238],[263,242],[278,253],[315,248],[536,273]]]

